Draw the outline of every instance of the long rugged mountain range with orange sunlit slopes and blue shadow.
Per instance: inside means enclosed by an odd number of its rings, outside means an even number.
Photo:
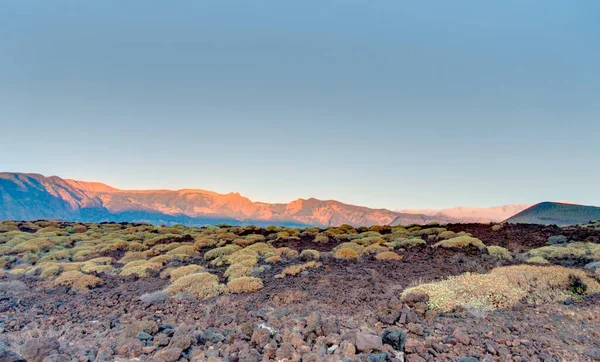
[[[426,224],[453,222],[439,216],[408,214],[343,204],[334,200],[298,199],[288,204],[253,202],[238,194],[206,190],[119,190],[96,182],[0,173],[0,220],[40,218],[72,221],[127,221],[186,225]]]

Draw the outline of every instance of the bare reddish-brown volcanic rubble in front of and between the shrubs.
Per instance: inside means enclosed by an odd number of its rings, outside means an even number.
[[[552,228],[447,226],[518,251],[545,245]],[[559,231],[598,242],[594,230]],[[82,292],[5,274],[0,361],[600,361],[597,294],[451,312],[429,309],[422,296],[400,298],[407,287],[514,260],[430,246],[404,251],[401,261],[340,260],[328,255],[335,243],[277,243],[319,248],[322,266],[278,279],[294,262],[269,265],[261,290],[203,301],[169,297],[159,276],[104,275],[102,285]]]

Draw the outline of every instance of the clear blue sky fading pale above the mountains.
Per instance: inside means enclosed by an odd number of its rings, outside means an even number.
[[[0,171],[600,205],[600,2],[0,2]]]

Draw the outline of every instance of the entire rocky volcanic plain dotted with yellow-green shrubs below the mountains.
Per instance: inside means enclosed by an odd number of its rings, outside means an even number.
[[[0,224],[1,361],[600,360],[600,223]]]

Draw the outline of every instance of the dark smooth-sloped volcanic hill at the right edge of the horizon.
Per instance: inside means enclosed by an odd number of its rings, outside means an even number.
[[[509,223],[575,225],[600,220],[600,207],[541,202],[508,218]]]

